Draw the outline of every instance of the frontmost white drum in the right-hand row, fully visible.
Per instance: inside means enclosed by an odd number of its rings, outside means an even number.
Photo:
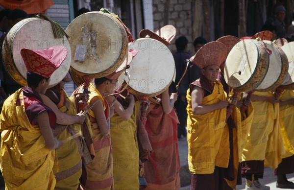
[[[229,52],[224,68],[226,83],[239,92],[258,87],[269,68],[270,56],[257,40],[242,40]]]

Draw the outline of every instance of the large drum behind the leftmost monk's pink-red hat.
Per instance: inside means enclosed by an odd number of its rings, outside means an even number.
[[[53,29],[49,21],[39,18],[28,18],[15,24],[7,33],[2,45],[3,65],[10,76],[20,85],[27,86],[25,63],[21,56],[21,49],[46,49],[64,46],[68,54],[61,66],[53,72],[49,88],[57,85],[68,73],[71,65],[71,47],[68,39],[54,38]]]

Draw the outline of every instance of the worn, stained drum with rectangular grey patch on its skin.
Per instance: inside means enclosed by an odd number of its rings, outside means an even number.
[[[75,18],[66,32],[71,36],[71,69],[100,78],[122,65],[128,38],[114,16],[100,11],[85,13]]]

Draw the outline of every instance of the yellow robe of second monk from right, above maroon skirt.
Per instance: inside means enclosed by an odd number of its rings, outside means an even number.
[[[254,92],[253,95],[272,96],[270,92]],[[254,116],[243,149],[242,161],[265,160],[276,168],[285,153],[279,122],[279,104],[267,101],[252,101]]]

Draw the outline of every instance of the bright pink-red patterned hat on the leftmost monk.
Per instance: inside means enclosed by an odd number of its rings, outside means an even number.
[[[45,78],[49,78],[59,68],[65,60],[67,52],[67,48],[63,46],[55,46],[42,50],[27,48],[21,50],[26,71],[34,72]]]

